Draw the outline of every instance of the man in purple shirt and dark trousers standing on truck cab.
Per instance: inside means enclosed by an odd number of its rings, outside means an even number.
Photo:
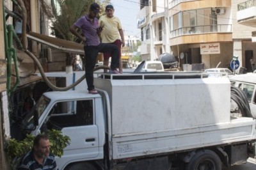
[[[111,70],[109,73],[119,73],[116,68],[119,66],[119,50],[116,45],[109,43],[100,43],[100,33],[102,27],[99,27],[97,14],[100,12],[100,6],[93,3],[90,6],[88,15],[78,19],[69,29],[69,31],[84,42],[85,75],[88,91],[91,94],[97,94],[98,91],[93,85],[93,68],[95,67],[97,55],[99,52],[111,52]],[[77,32],[81,29],[83,35]]]

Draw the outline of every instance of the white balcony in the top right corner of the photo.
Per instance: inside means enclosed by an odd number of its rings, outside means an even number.
[[[256,27],[256,0],[237,5],[237,22],[244,26]]]

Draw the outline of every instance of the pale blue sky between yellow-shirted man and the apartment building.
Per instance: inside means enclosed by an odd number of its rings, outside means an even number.
[[[125,35],[140,36],[137,29],[137,15],[140,11],[139,0],[111,0],[114,15],[121,20]]]

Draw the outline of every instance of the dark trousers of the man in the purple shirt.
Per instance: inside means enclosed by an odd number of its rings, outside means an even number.
[[[119,67],[119,50],[116,45],[111,43],[100,43],[97,46],[84,46],[85,77],[88,90],[94,89],[93,69],[99,52],[111,52],[111,70],[115,70]]]

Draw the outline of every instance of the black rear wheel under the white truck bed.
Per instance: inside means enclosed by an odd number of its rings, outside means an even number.
[[[211,150],[202,150],[191,158],[186,166],[186,170],[220,170],[221,160],[218,155]]]

